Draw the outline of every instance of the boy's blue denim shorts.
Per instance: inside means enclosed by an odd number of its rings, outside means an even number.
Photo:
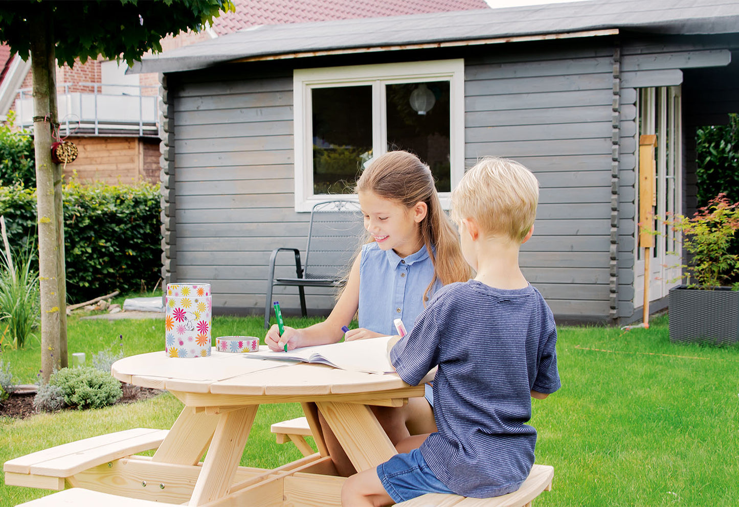
[[[436,478],[418,449],[396,454],[379,464],[377,475],[395,503],[426,493],[454,494]]]

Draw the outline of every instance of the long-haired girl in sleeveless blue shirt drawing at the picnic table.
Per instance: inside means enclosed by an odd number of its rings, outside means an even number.
[[[364,213],[368,242],[350,269],[344,291],[322,323],[282,336],[273,325],[265,343],[273,351],[338,342],[358,311],[359,328],[345,339],[396,334],[393,320],[415,323],[429,297],[452,282],[467,281],[469,266],[462,257],[457,233],[446,217],[431,170],[417,156],[390,151],[379,156],[359,178],[355,191]],[[430,401],[430,400],[429,400]],[[393,444],[413,434],[435,431],[429,403],[411,399],[404,407],[373,407]],[[338,472],[353,466],[323,424],[324,438]]]

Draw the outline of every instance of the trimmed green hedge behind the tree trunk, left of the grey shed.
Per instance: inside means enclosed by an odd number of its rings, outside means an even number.
[[[0,215],[8,241],[35,241],[35,190],[0,187]],[[158,185],[64,185],[67,302],[79,303],[115,289],[152,289],[160,277]]]

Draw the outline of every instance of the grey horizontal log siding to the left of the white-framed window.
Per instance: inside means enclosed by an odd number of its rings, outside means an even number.
[[[310,215],[294,211],[292,69],[277,75],[222,76],[181,83],[174,92],[177,280],[212,284],[224,311],[265,305],[270,252],[301,250]],[[292,256],[277,275],[294,276]],[[312,311],[332,308],[330,289],[306,289]],[[276,287],[287,313],[294,287]]]

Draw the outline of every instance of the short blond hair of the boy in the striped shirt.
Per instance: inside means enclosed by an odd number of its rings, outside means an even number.
[[[474,218],[483,232],[515,241],[534,225],[539,182],[519,162],[488,156],[468,170],[452,192],[452,218]]]

